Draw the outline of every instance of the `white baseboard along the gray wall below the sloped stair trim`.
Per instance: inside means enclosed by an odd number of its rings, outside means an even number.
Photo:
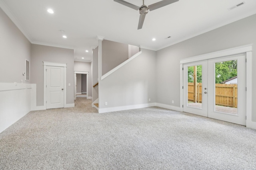
[[[144,107],[153,107],[153,106],[156,106],[156,103],[138,104],[138,105],[120,106],[120,107],[108,107],[108,108],[102,108],[102,109],[99,108],[99,113],[130,110],[130,109],[140,109],[140,108],[144,108]]]

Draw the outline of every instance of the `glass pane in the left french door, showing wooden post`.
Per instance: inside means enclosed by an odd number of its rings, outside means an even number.
[[[202,65],[188,66],[188,107],[202,109]]]

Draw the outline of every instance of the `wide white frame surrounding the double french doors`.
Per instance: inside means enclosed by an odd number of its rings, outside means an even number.
[[[252,44],[198,55],[180,60],[180,107],[183,105],[183,64],[207,59],[215,59],[230,55],[246,53],[246,127],[256,129],[256,122],[252,121]],[[183,109],[182,109],[183,111]]]

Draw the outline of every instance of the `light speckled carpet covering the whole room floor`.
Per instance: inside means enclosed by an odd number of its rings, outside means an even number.
[[[0,133],[0,169],[256,169],[256,130],[148,107],[31,111]]]

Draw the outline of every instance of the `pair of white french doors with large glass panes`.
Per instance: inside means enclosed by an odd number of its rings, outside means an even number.
[[[245,54],[183,64],[183,111],[246,125]]]

